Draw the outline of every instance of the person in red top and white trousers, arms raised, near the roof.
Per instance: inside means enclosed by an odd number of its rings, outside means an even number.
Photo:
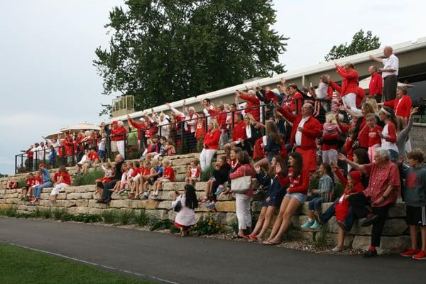
[[[339,74],[342,80],[342,100],[344,106],[356,109],[356,90],[358,88],[358,72],[354,69],[354,64],[351,62],[346,63],[344,67],[336,65],[336,72]]]

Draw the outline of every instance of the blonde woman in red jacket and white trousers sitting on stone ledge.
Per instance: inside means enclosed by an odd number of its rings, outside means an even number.
[[[204,148],[200,153],[200,166],[204,171],[212,164],[214,154],[219,148],[219,139],[222,132],[219,129],[216,119],[210,119],[206,136],[204,136]]]

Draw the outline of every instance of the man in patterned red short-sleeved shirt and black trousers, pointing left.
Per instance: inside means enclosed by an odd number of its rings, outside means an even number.
[[[370,226],[371,245],[364,252],[364,258],[377,256],[376,247],[380,246],[381,234],[385,226],[389,208],[396,202],[400,189],[400,175],[398,167],[391,162],[391,154],[385,148],[376,148],[374,162],[359,165],[348,160],[344,155],[339,155],[339,160],[344,160],[355,170],[359,170],[369,177],[368,187],[363,192],[349,196],[354,216],[366,217],[362,226]],[[371,205],[372,212],[367,209]]]

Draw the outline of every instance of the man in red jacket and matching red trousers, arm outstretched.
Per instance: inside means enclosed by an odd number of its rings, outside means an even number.
[[[317,142],[321,137],[322,125],[312,116],[312,104],[303,104],[301,114],[291,114],[285,107],[278,108],[284,118],[293,124],[290,146],[303,157],[303,165],[308,171],[317,170]]]

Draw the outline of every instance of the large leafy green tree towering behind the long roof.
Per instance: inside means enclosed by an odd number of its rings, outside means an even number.
[[[284,72],[278,56],[288,38],[271,28],[271,0],[125,4],[109,13],[110,46],[93,62],[104,94],[132,94],[136,109]]]

